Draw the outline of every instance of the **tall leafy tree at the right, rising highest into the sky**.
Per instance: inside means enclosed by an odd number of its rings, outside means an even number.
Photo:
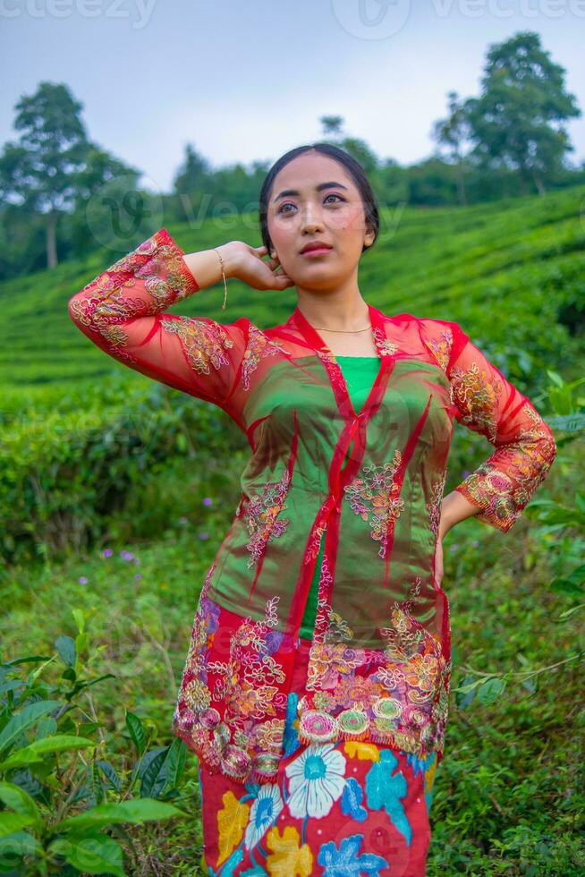
[[[517,170],[521,192],[533,181],[543,194],[547,176],[562,170],[564,153],[574,149],[562,123],[581,110],[564,89],[564,73],[538,33],[521,31],[490,47],[481,96],[465,102],[471,157]]]

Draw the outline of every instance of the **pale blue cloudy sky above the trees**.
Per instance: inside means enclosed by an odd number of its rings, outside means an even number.
[[[477,96],[491,44],[536,31],[585,110],[585,0],[0,0],[0,142],[39,82],[89,139],[168,192],[187,143],[212,167],[273,162],[322,115],[379,158],[435,149],[447,92]],[[4,69],[2,69],[4,68]],[[585,160],[585,119],[567,123]]]

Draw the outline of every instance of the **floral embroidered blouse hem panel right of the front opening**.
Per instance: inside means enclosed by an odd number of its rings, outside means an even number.
[[[451,664],[439,637],[412,614],[420,583],[418,576],[408,599],[390,608],[391,625],[380,630],[382,661],[378,651],[352,648],[352,629],[321,589],[307,694],[298,704],[301,740],[368,738],[407,752],[441,749]]]

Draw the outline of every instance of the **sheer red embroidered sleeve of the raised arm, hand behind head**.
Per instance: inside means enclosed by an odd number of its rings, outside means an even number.
[[[183,254],[161,228],[73,295],[69,314],[119,362],[225,407],[246,349],[246,321],[163,312],[199,290]]]

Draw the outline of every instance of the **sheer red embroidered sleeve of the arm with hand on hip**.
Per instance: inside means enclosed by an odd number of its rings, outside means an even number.
[[[496,448],[455,490],[478,506],[484,524],[507,532],[556,456],[552,430],[527,396],[489,362],[457,323],[447,363],[456,420]]]

